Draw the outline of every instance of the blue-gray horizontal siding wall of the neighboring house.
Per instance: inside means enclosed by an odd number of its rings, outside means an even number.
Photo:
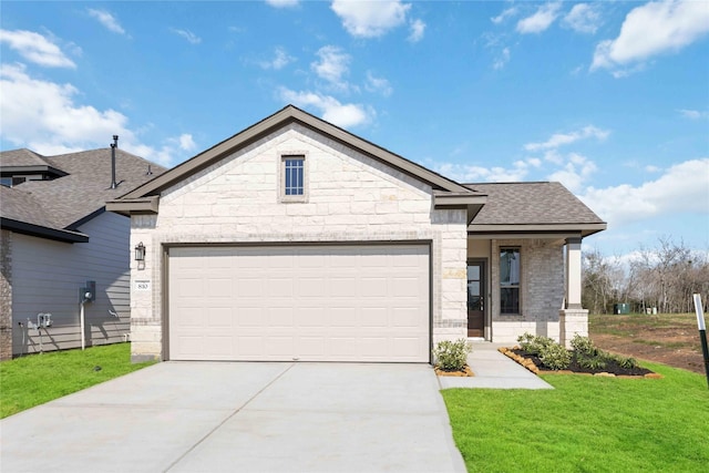
[[[27,330],[28,318],[37,322],[40,312],[52,313],[52,326],[41,331],[44,351],[81,347],[79,289],[89,280],[96,282],[96,296],[85,305],[86,346],[123,341],[130,332],[130,219],[104,213],[80,229],[89,243],[13,235],[14,354],[40,350],[38,330]]]

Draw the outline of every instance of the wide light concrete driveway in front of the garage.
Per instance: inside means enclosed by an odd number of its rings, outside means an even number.
[[[0,422],[3,472],[463,472],[427,364],[164,362]]]

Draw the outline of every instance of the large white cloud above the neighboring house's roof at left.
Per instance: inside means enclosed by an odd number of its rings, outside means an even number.
[[[182,151],[194,146],[188,134],[169,138],[161,148],[140,142],[129,128],[129,119],[114,110],[76,104],[81,92],[71,84],[56,84],[30,76],[23,65],[0,65],[0,136],[17,147],[53,155],[106,147],[120,135],[122,148],[163,165],[174,164]]]

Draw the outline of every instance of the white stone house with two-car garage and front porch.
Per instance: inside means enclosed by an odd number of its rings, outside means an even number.
[[[292,105],[121,198],[134,360],[430,362],[440,340],[587,332],[557,183],[463,185]]]

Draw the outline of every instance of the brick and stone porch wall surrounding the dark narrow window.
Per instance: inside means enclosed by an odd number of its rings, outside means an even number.
[[[521,256],[520,315],[500,313],[500,248],[518,247]],[[492,241],[492,341],[514,343],[531,332],[559,340],[559,309],[564,300],[564,246],[552,239]]]

